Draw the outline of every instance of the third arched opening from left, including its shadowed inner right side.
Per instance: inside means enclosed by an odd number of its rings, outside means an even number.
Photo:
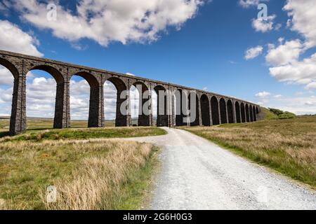
[[[91,73],[79,72],[71,76],[70,113],[72,127],[100,127],[100,94],[98,80]]]

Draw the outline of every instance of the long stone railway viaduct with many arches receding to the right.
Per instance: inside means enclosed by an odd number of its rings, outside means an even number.
[[[261,111],[260,106],[251,102],[246,102],[233,97],[226,97],[213,92],[195,90],[190,87],[184,87],[171,83],[164,83],[157,80],[128,76],[122,73],[114,73],[100,69],[93,69],[86,66],[79,66],[64,62],[57,62],[51,59],[21,55],[14,52],[0,50],[0,64],[5,66],[14,76],[13,99],[11,111],[10,134],[19,134],[26,130],[26,76],[29,71],[43,70],[50,73],[57,83],[55,99],[55,118],[54,128],[70,127],[70,78],[72,76],[81,76],[86,79],[90,85],[90,106],[88,115],[88,127],[104,127],[104,95],[103,85],[105,81],[110,81],[117,88],[117,116],[115,125],[118,127],[129,127],[132,125],[130,113],[129,91],[126,98],[121,99],[121,92],[130,90],[131,86],[140,85],[142,91],[147,91],[147,99],[140,100],[140,106],[147,102],[149,115],[142,113],[138,117],[139,126],[152,126],[152,90],[159,92],[165,91],[164,100],[158,99],[157,126],[211,126],[222,123],[247,123],[257,120],[257,114]],[[190,95],[184,101],[175,97],[173,92],[196,92],[197,98],[197,119],[192,123],[183,123],[185,115],[175,113],[175,102],[187,102],[187,108],[190,108]],[[157,94],[159,96],[159,94]],[[182,97],[185,94],[181,95]],[[181,97],[180,96],[180,97]],[[126,114],[120,111],[121,104],[126,104]],[[164,105],[159,105],[164,102]],[[160,103],[161,104],[161,103]]]

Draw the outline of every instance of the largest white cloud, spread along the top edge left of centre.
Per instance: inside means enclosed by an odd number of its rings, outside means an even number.
[[[81,0],[76,12],[57,6],[57,19],[46,20],[46,3],[14,0],[24,20],[68,41],[89,38],[106,46],[111,41],[150,42],[168,27],[194,18],[203,0]]]

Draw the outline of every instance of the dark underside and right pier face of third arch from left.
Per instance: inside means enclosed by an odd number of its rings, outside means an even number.
[[[72,73],[69,79],[74,76],[84,78],[90,87],[90,100],[88,111],[88,127],[103,127],[103,86],[99,83],[98,78],[92,73],[79,71]]]

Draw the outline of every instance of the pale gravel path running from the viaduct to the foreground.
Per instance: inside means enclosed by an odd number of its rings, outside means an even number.
[[[163,146],[150,209],[316,209],[315,191],[184,130],[133,138]]]

